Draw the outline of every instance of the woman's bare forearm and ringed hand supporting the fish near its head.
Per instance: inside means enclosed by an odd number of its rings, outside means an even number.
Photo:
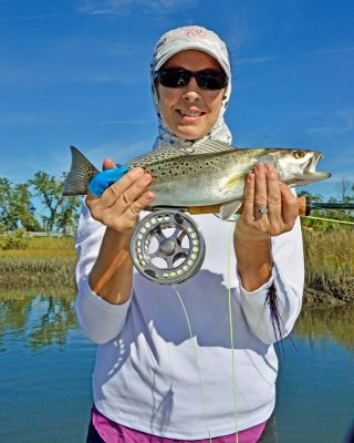
[[[272,275],[270,237],[294,226],[298,200],[287,185],[279,182],[272,165],[258,164],[244,184],[244,204],[235,228],[235,253],[242,287],[251,292]]]

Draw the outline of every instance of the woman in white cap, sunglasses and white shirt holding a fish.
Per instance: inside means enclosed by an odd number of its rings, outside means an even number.
[[[230,64],[214,32],[186,27],[164,34],[152,86],[159,120],[155,146],[197,153],[206,138],[231,143],[222,117]],[[113,167],[104,162],[104,169]],[[142,168],[124,172],[117,169],[122,178],[102,195],[105,172],[93,179],[77,234],[76,312],[83,332],[98,344],[87,442],[274,442],[278,334],[269,300],[277,296],[284,337],[299,316],[303,287],[294,195],[273,166],[258,164],[246,182],[230,257],[231,224],[196,217],[206,258],[178,287],[190,334],[175,289],[133,270],[129,239],[154,195]]]

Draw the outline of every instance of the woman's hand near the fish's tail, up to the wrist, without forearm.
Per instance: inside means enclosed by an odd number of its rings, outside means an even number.
[[[104,161],[104,169],[113,167],[116,167],[113,161]],[[154,193],[147,190],[152,179],[142,167],[134,167],[107,187],[101,197],[88,192],[86,205],[92,217],[118,233],[132,231],[138,214],[154,198]]]

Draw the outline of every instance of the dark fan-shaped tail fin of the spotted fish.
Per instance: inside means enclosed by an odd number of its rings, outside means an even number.
[[[64,178],[63,195],[85,195],[88,183],[98,169],[74,146],[71,148],[71,168]]]

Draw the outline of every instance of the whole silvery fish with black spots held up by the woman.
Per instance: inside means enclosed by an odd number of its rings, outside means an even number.
[[[72,165],[64,181],[64,195],[85,195],[98,169],[71,146]],[[242,205],[247,175],[257,163],[273,164],[280,179],[289,186],[308,185],[325,179],[330,173],[316,172],[322,153],[291,148],[236,148],[207,141],[192,148],[159,147],[127,162],[153,176],[149,189],[155,198],[148,209],[174,207],[189,209],[220,205],[222,219]]]

